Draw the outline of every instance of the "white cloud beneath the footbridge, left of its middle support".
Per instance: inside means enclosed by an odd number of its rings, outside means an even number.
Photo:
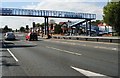
[[[0,28],[4,28],[5,25],[8,25],[9,28],[12,29],[19,29],[21,26],[26,27],[26,25],[32,27],[32,22],[34,21],[37,23],[44,22],[42,18],[40,19],[32,17],[0,16]]]

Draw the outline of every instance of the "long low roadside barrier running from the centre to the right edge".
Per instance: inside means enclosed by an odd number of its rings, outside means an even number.
[[[96,41],[96,42],[110,42],[120,43],[119,37],[89,37],[89,36],[52,36],[54,39],[71,39],[71,40],[83,40],[83,41]]]

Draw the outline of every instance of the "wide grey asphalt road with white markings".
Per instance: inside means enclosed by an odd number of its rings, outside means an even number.
[[[42,39],[4,41],[2,76],[118,76],[118,44]]]

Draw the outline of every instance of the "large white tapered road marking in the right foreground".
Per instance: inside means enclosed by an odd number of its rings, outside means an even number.
[[[80,68],[77,68],[77,67],[73,67],[73,66],[70,66],[70,67],[73,68],[74,70],[84,74],[85,76],[104,76],[104,77],[107,77],[107,78],[111,78],[111,77],[108,77],[108,76],[103,75],[103,74],[94,73],[94,72],[91,72],[91,71],[88,71],[88,70],[83,70],[83,69],[80,69]]]

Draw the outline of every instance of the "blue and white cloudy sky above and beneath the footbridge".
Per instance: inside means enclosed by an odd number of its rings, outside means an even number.
[[[20,8],[20,9],[36,9],[36,10],[57,10],[70,11],[79,13],[93,13],[97,15],[97,20],[102,20],[103,7],[109,0],[1,0],[0,7],[2,8]],[[63,21],[79,21],[80,19],[58,19],[50,18],[55,22]],[[50,20],[49,19],[49,20]],[[0,16],[0,26],[3,28],[8,25],[12,29],[19,29],[21,26],[32,26],[32,22],[43,23],[42,17],[3,17]],[[1,28],[0,27],[0,28]]]

